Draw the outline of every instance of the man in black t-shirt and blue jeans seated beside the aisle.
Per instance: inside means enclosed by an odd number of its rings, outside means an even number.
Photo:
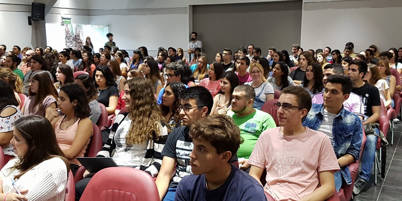
[[[375,123],[380,116],[381,100],[377,87],[363,82],[367,72],[367,64],[363,60],[353,60],[349,62],[349,77],[353,81],[352,92],[359,95],[364,106],[363,125],[366,127],[369,123]],[[364,145],[363,157],[361,159],[360,178],[355,182],[353,193],[359,194],[361,189],[367,185],[370,178],[370,172],[375,158],[375,147],[377,146],[377,135],[379,129],[375,128],[376,135],[367,135]]]

